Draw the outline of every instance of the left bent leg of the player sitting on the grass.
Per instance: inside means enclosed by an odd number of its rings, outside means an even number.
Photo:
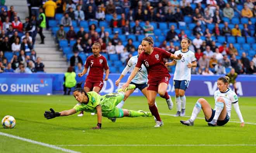
[[[190,119],[187,121],[180,121],[180,122],[187,126],[193,126],[195,118],[197,117],[199,112],[201,112],[201,110],[203,110],[204,112],[204,117],[206,121],[209,121],[213,118],[213,109],[211,109],[211,105],[205,99],[200,98],[195,103]]]

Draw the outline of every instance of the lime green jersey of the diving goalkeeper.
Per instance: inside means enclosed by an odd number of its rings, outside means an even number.
[[[88,103],[87,104],[76,104],[73,108],[76,112],[94,112],[97,113],[97,105],[101,106],[102,114],[106,114],[115,109],[116,105],[123,100],[124,95],[122,93],[110,93],[100,96],[97,92],[87,92]]]

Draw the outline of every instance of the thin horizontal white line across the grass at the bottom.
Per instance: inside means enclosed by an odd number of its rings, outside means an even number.
[[[125,145],[125,144],[123,144],[123,145],[57,145],[57,146],[88,146],[88,147],[99,147],[99,146],[106,146],[106,147],[109,147],[109,146],[138,146],[138,147],[141,147],[141,146],[152,146],[152,147],[154,147],[154,146],[256,146],[256,144],[234,144],[234,145],[228,145],[228,144],[224,144],[224,145],[218,145],[218,144],[215,144],[215,145],[207,145],[207,144],[198,144],[198,145],[186,145],[186,144],[184,144],[184,145],[143,145],[143,144],[141,144],[141,145],[133,145],[133,144],[131,144],[131,145]]]

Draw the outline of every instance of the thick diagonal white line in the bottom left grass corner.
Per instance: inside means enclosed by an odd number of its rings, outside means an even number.
[[[64,151],[66,153],[80,153],[80,152],[77,152],[77,151],[61,148],[61,147],[58,147],[58,146],[55,146],[55,145],[49,145],[47,143],[42,143],[42,142],[34,141],[34,140],[31,140],[31,139],[22,138],[22,137],[19,137],[19,136],[14,136],[12,134],[7,134],[7,133],[0,132],[0,136],[7,136],[7,137],[10,137],[10,138],[19,139],[21,141],[26,141],[26,142],[33,143],[33,144],[36,144],[36,145],[46,146],[48,148],[53,148],[53,149],[56,149],[56,150],[61,150],[61,151]]]

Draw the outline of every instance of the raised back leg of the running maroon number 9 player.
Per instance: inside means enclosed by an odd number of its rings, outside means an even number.
[[[165,78],[167,78],[167,77],[165,77]],[[168,88],[168,83],[161,82],[158,85],[158,94],[160,95],[160,97],[162,97],[166,100],[168,108],[171,110],[171,109],[173,109],[173,101],[171,100],[171,96],[168,95],[168,93],[166,92],[167,88]]]

